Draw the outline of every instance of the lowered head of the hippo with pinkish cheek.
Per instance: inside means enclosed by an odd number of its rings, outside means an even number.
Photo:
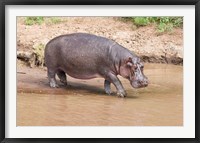
[[[132,87],[141,88],[148,85],[148,79],[143,74],[144,65],[141,63],[140,58],[130,56],[120,66],[120,75],[127,78]]]

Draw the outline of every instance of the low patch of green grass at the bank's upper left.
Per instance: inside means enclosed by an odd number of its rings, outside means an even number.
[[[25,25],[41,25],[43,23],[47,25],[52,25],[52,24],[58,24],[60,22],[65,21],[64,19],[60,17],[41,17],[41,16],[29,16],[25,17],[24,23]]]

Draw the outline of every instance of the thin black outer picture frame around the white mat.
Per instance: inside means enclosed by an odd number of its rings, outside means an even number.
[[[195,74],[195,138],[5,138],[5,7],[6,5],[194,5],[195,73],[199,72],[200,0],[0,0],[0,141],[1,143],[200,143],[199,76]]]

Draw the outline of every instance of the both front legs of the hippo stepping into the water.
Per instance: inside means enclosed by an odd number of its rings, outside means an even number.
[[[115,85],[118,96],[120,96],[120,97],[126,96],[126,92],[124,90],[124,87],[122,86],[122,83],[120,82],[118,77],[112,73],[107,75],[107,79],[104,82],[104,87],[105,87],[105,91],[107,94],[111,93],[110,82]]]

